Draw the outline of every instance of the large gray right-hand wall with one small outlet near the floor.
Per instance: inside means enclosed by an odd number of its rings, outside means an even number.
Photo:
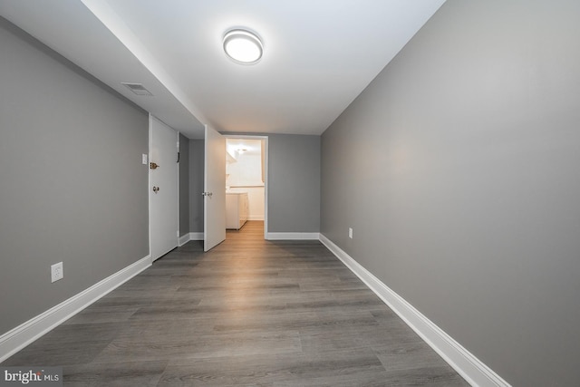
[[[578,15],[449,0],[323,134],[324,236],[515,386],[580,380]]]

